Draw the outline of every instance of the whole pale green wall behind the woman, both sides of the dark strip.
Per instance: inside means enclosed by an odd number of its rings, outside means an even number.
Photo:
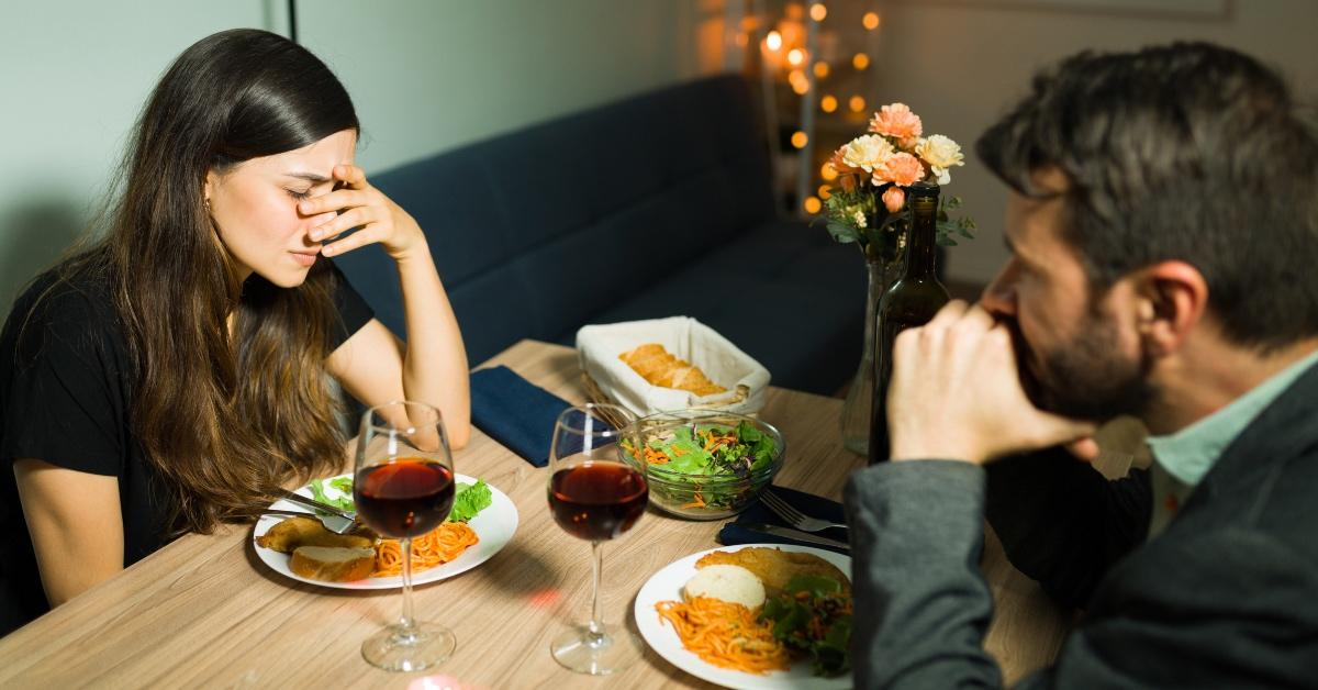
[[[708,5],[708,0],[700,4]],[[198,38],[286,33],[283,0],[0,5],[0,318],[88,224],[156,79]],[[381,170],[717,67],[696,0],[303,0],[299,40],[343,79]],[[473,203],[478,201],[473,199]]]

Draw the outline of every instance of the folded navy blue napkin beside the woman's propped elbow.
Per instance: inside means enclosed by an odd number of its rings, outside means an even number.
[[[472,423],[526,462],[550,462],[554,422],[572,404],[507,367],[472,372]]]

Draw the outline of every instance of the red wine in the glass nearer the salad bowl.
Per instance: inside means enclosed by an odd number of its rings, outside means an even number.
[[[648,497],[646,476],[621,463],[583,462],[550,479],[554,520],[583,540],[612,540],[631,529],[646,512]]]

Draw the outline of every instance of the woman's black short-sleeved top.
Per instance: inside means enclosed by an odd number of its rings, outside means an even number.
[[[331,272],[340,317],[332,351],[373,314],[332,264]],[[129,426],[132,375],[105,285],[88,277],[57,281],[47,273],[14,301],[0,331],[0,636],[50,610],[18,501],[14,459],[119,478],[125,567],[165,545],[166,492]]]

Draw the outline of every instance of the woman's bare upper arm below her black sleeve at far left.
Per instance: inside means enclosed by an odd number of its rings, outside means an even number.
[[[51,607],[124,570],[119,478],[30,458],[16,460],[13,472]]]

